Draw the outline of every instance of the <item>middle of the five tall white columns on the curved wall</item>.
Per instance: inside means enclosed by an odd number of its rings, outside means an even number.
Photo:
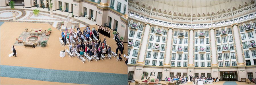
[[[189,29],[189,66],[193,66],[194,29]]]

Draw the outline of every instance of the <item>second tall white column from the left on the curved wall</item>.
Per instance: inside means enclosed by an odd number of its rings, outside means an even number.
[[[168,39],[167,39],[167,49],[166,49],[166,56],[165,56],[165,63],[164,65],[170,66],[170,57],[171,57],[171,44],[172,44],[172,30],[173,27],[168,27]]]

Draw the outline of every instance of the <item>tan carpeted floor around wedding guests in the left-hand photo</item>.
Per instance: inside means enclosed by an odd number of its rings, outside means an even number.
[[[93,26],[93,25],[92,25]],[[90,27],[92,27],[90,26]],[[98,27],[98,26],[96,26]],[[27,47],[25,46],[15,46],[17,57],[9,57],[11,54],[11,46],[16,41],[16,38],[25,31],[25,29],[31,28],[38,29],[42,28],[47,30],[52,29],[51,35],[48,40],[46,47]],[[88,71],[88,72],[101,72],[101,73],[118,73],[118,74],[128,74],[127,65],[124,61],[116,61],[116,58],[105,59],[96,62],[86,61],[82,63],[77,57],[69,58],[66,54],[64,58],[59,57],[59,52],[68,49],[68,46],[62,47],[59,43],[59,37],[61,37],[61,31],[54,28],[49,24],[44,23],[23,23],[23,22],[5,22],[1,25],[1,65],[11,65],[11,66],[22,66],[22,67],[34,67],[43,69],[56,69],[56,70],[68,70],[68,71]],[[103,35],[100,38],[103,39]],[[115,52],[115,41],[113,41],[113,36],[107,38],[107,44],[112,47],[112,51]],[[127,54],[127,43],[125,44],[124,54]],[[2,79],[1,79],[2,81]],[[32,80],[34,81],[34,80]],[[9,82],[9,83],[8,83]],[[13,80],[5,79],[5,84],[11,84]],[[2,84],[2,82],[1,82]],[[33,84],[33,83],[31,83]],[[50,83],[49,83],[50,84]]]

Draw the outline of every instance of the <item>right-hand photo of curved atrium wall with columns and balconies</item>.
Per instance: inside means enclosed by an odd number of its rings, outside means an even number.
[[[255,0],[128,7],[130,84],[255,84]]]

